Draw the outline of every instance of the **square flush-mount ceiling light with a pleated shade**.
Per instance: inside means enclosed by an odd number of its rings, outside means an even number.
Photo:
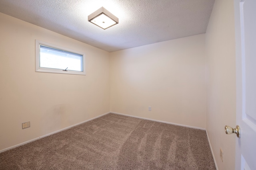
[[[107,29],[118,24],[118,18],[103,7],[90,14],[88,16],[88,21],[102,29]]]

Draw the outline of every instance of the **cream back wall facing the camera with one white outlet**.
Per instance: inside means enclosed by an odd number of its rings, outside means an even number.
[[[204,39],[200,34],[110,53],[110,111],[205,128]]]

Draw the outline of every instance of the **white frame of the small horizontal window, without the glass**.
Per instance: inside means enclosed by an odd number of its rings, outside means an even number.
[[[71,53],[76,53],[79,55],[82,55],[82,64],[83,64],[83,71],[73,71],[73,70],[68,70],[68,71],[63,71],[65,70],[65,68],[62,69],[57,69],[57,68],[45,68],[45,67],[40,67],[40,45],[44,45],[44,46],[48,46],[48,47],[52,47],[55,49],[60,49],[63,51],[68,51]],[[51,72],[51,73],[60,73],[60,74],[79,74],[79,75],[86,75],[85,72],[85,54],[78,52],[78,51],[74,51],[74,50],[70,50],[64,47],[60,47],[58,45],[53,45],[50,43],[46,43],[43,41],[39,41],[36,40],[36,72]]]

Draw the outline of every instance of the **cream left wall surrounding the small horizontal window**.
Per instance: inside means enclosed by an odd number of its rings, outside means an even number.
[[[85,53],[86,76],[35,72],[35,39]],[[109,79],[108,52],[0,13],[0,150],[109,112]]]

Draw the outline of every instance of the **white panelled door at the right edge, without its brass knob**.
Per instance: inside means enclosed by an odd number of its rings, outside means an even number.
[[[256,170],[256,0],[234,0],[236,27],[236,170]],[[234,128],[234,127],[233,127]]]

